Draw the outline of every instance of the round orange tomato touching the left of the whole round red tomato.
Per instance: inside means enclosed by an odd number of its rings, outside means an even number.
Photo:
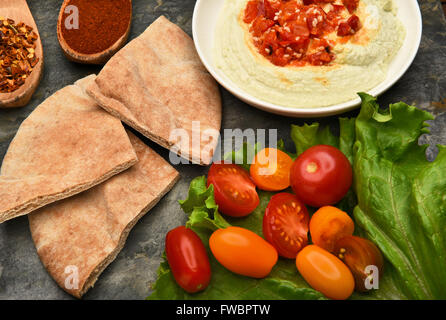
[[[293,159],[285,152],[274,148],[261,150],[250,168],[252,180],[259,189],[280,191],[290,186]]]

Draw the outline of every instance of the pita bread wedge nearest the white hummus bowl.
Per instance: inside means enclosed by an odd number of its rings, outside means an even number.
[[[194,163],[211,163],[220,93],[192,39],[165,17],[116,53],[87,92],[147,138]]]

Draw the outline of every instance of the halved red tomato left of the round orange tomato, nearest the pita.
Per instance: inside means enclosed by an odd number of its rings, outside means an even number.
[[[228,216],[247,216],[259,205],[255,184],[238,165],[214,163],[208,173],[207,185],[211,184],[219,211]]]

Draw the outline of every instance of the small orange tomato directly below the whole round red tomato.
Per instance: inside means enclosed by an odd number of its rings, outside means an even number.
[[[334,251],[338,239],[351,236],[354,229],[352,218],[344,211],[331,206],[320,208],[310,220],[313,243],[329,252]]]

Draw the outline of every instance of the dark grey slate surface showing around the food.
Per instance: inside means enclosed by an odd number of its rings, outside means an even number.
[[[100,68],[71,63],[63,56],[56,35],[57,16],[62,0],[28,0],[38,25],[45,53],[45,70],[39,89],[27,107],[0,110],[0,160],[21,122],[32,110],[58,89]],[[387,93],[382,105],[397,101],[413,103],[434,112],[432,134],[423,142],[446,144],[446,21],[440,1],[419,0],[424,20],[423,40],[418,56],[407,74]],[[165,15],[191,34],[194,0],[133,0],[131,38],[139,35],[159,15]],[[222,89],[223,128],[277,128],[279,137],[291,148],[290,124],[304,120],[275,116],[254,109]],[[343,116],[354,116],[357,111]],[[316,119],[335,124],[336,117]],[[312,120],[305,120],[311,122]],[[144,141],[166,159],[168,152]],[[435,147],[429,157],[435,156]],[[143,299],[150,293],[163,252],[166,232],[185,222],[177,204],[184,199],[189,182],[207,169],[182,165],[181,181],[134,227],[117,259],[100,276],[85,299]],[[72,299],[47,274],[36,254],[28,219],[20,217],[0,224],[0,299]]]

